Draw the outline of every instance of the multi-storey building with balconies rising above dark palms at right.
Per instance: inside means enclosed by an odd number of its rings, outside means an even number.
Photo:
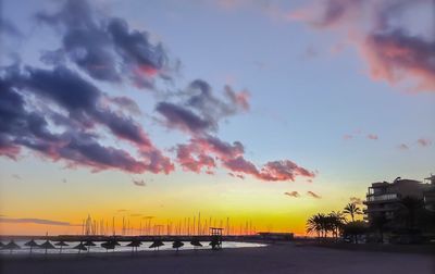
[[[396,178],[393,183],[373,183],[369,187],[364,213],[371,223],[376,216],[384,216],[387,221],[396,219],[401,209],[400,200],[407,196],[421,199],[427,210],[435,210],[435,175],[425,178],[430,183],[414,179]]]

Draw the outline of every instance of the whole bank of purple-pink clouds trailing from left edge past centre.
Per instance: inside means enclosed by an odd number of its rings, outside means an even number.
[[[134,85],[154,90],[154,99],[164,98],[156,104],[158,124],[189,136],[188,144],[172,150],[183,170],[212,175],[223,167],[239,178],[251,175],[266,182],[314,177],[289,160],[258,167],[245,158],[240,141],[216,136],[223,120],[249,111],[247,90],[224,86],[216,91],[196,79],[177,92],[158,94],[156,82],[174,80],[172,73],[179,66],[170,62],[162,45],[87,1],[66,0],[58,8],[36,14],[40,25],[60,36],[58,48],[40,51],[44,68],[21,63],[0,67],[0,155],[17,160],[24,149],[94,172],[171,173],[172,160],[134,119],[141,115],[138,104],[100,89]]]

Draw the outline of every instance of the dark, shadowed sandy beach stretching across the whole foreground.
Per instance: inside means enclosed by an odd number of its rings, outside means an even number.
[[[433,254],[313,246],[2,259],[1,273],[395,273],[433,274]]]

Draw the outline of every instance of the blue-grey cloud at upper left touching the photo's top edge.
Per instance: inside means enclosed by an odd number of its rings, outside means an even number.
[[[67,0],[58,12],[39,12],[37,20],[62,34],[62,46],[48,60],[66,57],[95,79],[119,83],[127,77],[140,88],[153,88],[156,76],[169,78],[166,52],[148,34],[132,30],[123,18],[107,17],[85,0]],[[47,59],[46,59],[47,60]]]

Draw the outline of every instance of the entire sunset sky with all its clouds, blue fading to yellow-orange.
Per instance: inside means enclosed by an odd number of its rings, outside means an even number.
[[[434,5],[2,0],[0,234],[200,212],[302,235],[371,183],[423,180]]]

